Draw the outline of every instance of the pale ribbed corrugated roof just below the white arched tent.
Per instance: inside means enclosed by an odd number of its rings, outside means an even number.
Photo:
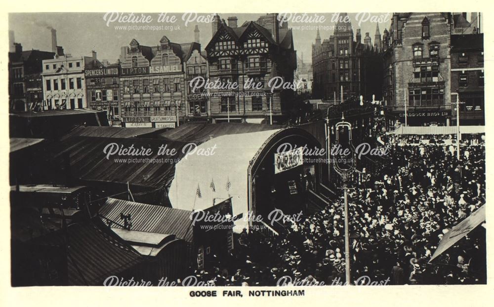
[[[192,243],[192,211],[136,203],[122,199],[108,198],[99,214],[106,219],[121,223],[120,214],[130,214],[131,230],[174,234],[177,238]],[[105,219],[102,219],[105,221]],[[122,228],[112,224],[114,228]]]

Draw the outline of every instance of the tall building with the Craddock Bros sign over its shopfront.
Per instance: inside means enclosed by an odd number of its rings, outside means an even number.
[[[466,13],[393,14],[383,37],[383,101],[389,124],[451,125],[452,35],[474,28]]]

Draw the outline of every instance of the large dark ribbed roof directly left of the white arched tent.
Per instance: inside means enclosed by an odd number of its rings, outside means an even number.
[[[151,156],[118,156],[107,159],[104,148],[116,143],[128,148],[151,148]],[[120,182],[146,187],[168,187],[175,172],[175,163],[184,156],[182,148],[185,142],[150,138],[109,138],[73,136],[60,142],[53,148],[55,158],[69,155],[71,173],[76,178],[90,181]],[[174,155],[158,155],[160,146],[175,149]],[[139,162],[124,163],[115,159],[138,158]],[[164,162],[146,159],[169,159]]]

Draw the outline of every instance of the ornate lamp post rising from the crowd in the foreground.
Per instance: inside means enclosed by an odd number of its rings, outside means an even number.
[[[355,172],[355,148],[352,144],[352,125],[345,121],[345,117],[341,116],[341,122],[336,124],[336,143],[339,144],[340,132],[348,130],[348,147],[344,150],[339,150],[340,158],[335,158],[333,167],[343,180],[343,197],[345,211],[345,277],[346,284],[350,285],[350,235],[348,227],[348,181],[350,176]],[[340,148],[341,149],[341,148]],[[345,154],[346,152],[346,154]]]

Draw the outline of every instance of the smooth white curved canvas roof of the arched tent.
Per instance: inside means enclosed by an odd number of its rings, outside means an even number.
[[[265,142],[282,129],[215,137],[186,155],[175,166],[169,199],[173,208],[204,210],[232,197],[235,232],[247,228],[248,167]],[[214,151],[211,151],[214,149]],[[214,152],[200,155],[201,152]],[[192,153],[193,151],[189,151]]]

